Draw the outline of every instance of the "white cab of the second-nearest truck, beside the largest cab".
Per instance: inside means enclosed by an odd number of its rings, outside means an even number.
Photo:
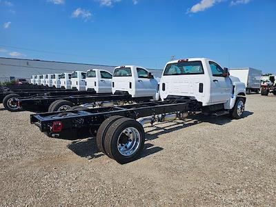
[[[112,93],[126,92],[132,97],[159,99],[159,84],[151,72],[140,66],[120,66],[112,77]]]

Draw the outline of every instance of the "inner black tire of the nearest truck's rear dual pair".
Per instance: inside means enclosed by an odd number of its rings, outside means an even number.
[[[101,126],[99,126],[99,129],[97,131],[97,136],[96,136],[96,143],[99,151],[103,152],[106,154],[106,150],[104,148],[104,139],[106,137],[106,132],[108,131],[108,128],[117,121],[118,119],[124,118],[122,116],[112,116],[108,117],[108,119],[104,120],[103,123],[101,123]],[[107,154],[106,154],[107,155]]]

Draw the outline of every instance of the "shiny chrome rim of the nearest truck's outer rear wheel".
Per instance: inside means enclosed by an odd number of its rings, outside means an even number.
[[[131,156],[138,150],[141,142],[139,130],[134,127],[128,127],[119,135],[117,148],[121,155]]]

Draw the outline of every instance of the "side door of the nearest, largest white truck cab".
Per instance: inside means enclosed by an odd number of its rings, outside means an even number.
[[[211,69],[210,96],[212,103],[224,103],[232,93],[232,83],[229,77],[223,77],[223,69],[219,64],[209,61]]]

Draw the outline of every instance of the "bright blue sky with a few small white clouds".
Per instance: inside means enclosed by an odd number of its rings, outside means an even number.
[[[0,57],[164,68],[175,55],[276,72],[275,22],[275,0],[1,0]]]

